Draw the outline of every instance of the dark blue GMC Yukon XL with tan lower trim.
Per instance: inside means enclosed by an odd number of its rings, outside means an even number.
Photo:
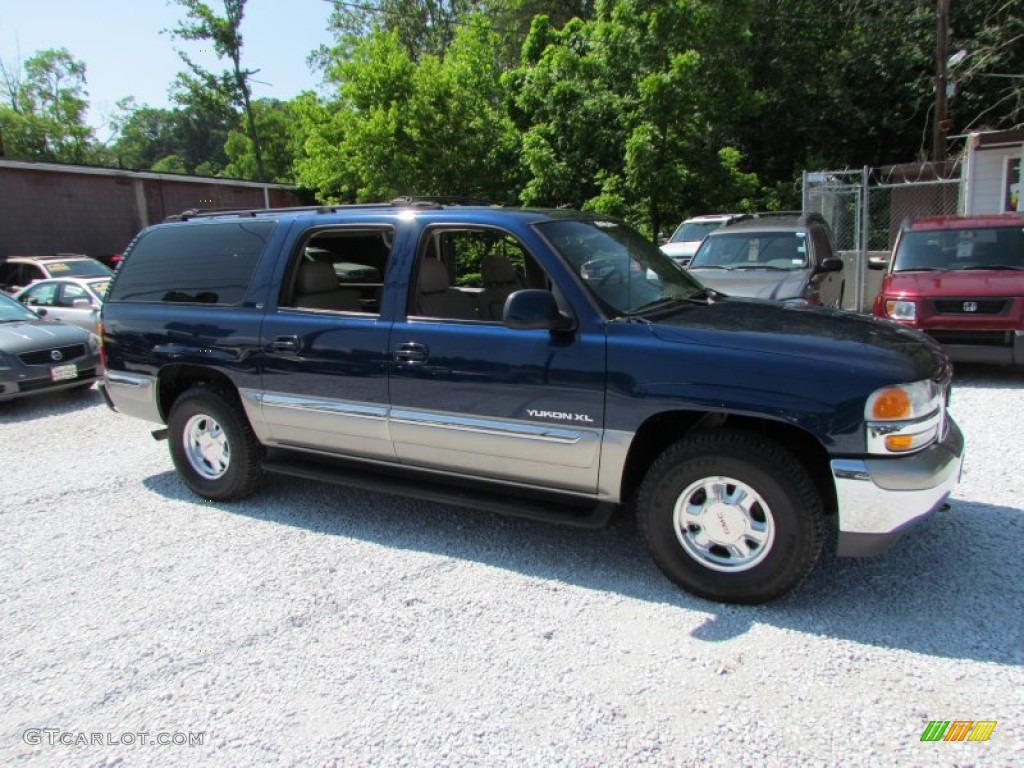
[[[396,202],[182,214],[102,310],[103,391],[205,499],[264,472],[577,525],[635,512],[690,592],[764,602],[955,486],[951,369],[896,324],[732,299],[623,223]]]

